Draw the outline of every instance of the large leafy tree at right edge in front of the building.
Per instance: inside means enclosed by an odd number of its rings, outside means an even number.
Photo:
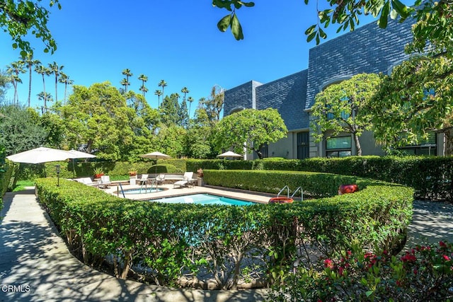
[[[384,76],[370,102],[374,137],[387,149],[418,144],[428,132],[446,135],[446,155],[453,155],[453,60],[412,57]]]

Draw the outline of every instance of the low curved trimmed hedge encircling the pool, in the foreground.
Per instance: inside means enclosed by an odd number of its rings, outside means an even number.
[[[205,175],[214,181],[222,173],[224,179],[234,177],[231,171]],[[337,181],[352,178],[299,174],[308,175],[307,183],[319,182],[311,185],[311,194],[321,199],[206,207],[119,199],[78,182],[60,180],[57,187],[55,178],[38,179],[36,187],[69,248],[93,267],[109,257],[122,279],[139,265],[144,268],[140,277],[156,284],[181,285],[184,278],[196,284],[194,276],[210,274],[217,288],[235,289],[251,276],[275,281],[297,259],[309,269],[310,257],[331,257],[352,244],[398,250],[411,219],[411,188],[357,179],[360,192],[326,197],[335,193]],[[277,182],[269,179],[282,175],[247,171],[241,178],[272,187]],[[291,177],[299,182],[303,176]]]

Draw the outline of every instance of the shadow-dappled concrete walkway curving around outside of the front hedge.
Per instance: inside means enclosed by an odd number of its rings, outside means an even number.
[[[408,247],[453,240],[453,206],[414,202]],[[0,301],[262,301],[266,290],[167,289],[120,280],[67,250],[34,190],[6,193],[0,216]]]

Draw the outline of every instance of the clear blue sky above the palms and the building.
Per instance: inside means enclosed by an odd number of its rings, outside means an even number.
[[[45,2],[45,1],[44,1]],[[55,54],[42,52],[42,42],[32,40],[35,58],[42,63],[57,62],[74,84],[91,86],[110,81],[120,88],[123,69],[130,69],[130,89],[139,93],[139,74],[149,80],[147,101],[156,108],[154,91],[164,79],[165,94],[180,93],[188,87],[195,102],[208,97],[212,86],[233,88],[246,81],[267,83],[306,69],[309,49],[304,31],[316,22],[315,1],[256,1],[253,8],[241,8],[239,20],[244,40],[236,41],[231,32],[221,33],[217,22],[228,13],[214,8],[211,1],[96,0],[64,1],[62,10],[52,8],[49,28],[57,41]],[[277,3],[278,5],[275,5]],[[372,19],[362,21],[361,25]],[[336,24],[328,28],[329,39],[338,36]],[[342,32],[343,33],[343,32]],[[0,34],[0,68],[16,61],[18,50],[11,38]],[[23,74],[18,95],[25,104],[28,75]],[[55,97],[52,76],[46,91]],[[36,95],[42,80],[33,74],[32,106],[40,106]],[[64,87],[58,88],[59,99]],[[12,99],[13,88],[8,96]]]

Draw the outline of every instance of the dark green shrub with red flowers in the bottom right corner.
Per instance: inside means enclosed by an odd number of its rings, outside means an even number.
[[[299,267],[274,286],[273,301],[449,301],[453,246],[418,245],[400,257],[360,248]]]

